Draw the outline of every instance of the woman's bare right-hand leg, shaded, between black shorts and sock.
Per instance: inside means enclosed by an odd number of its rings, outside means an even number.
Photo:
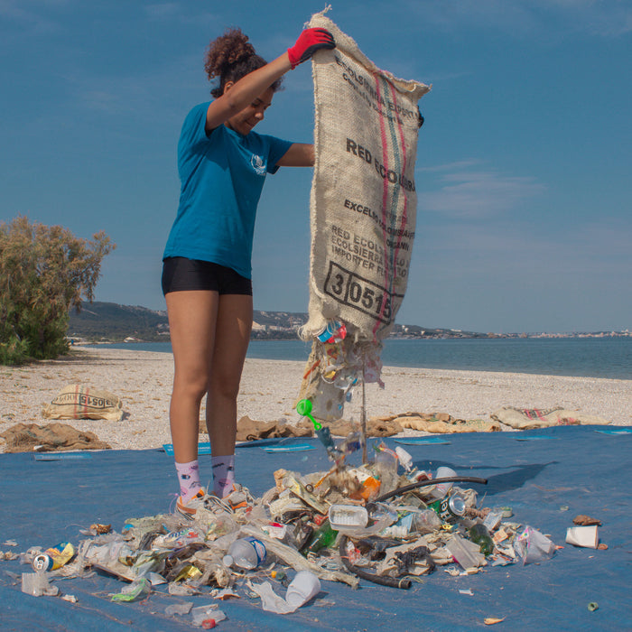
[[[206,423],[213,457],[235,453],[237,395],[252,323],[252,296],[223,294],[219,297],[206,403]]]

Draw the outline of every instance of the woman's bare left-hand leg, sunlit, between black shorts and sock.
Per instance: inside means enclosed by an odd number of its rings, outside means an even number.
[[[172,402],[169,410],[177,463],[198,458],[200,403],[209,385],[215,344],[217,292],[172,292],[165,296],[172,339]]]

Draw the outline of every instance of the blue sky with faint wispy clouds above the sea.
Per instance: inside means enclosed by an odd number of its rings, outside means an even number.
[[[632,3],[331,1],[376,64],[432,84],[397,321],[476,331],[632,327]],[[272,8],[274,7],[274,8]],[[322,2],[0,0],[0,221],[103,229],[99,301],[164,309],[176,144],[203,55],[239,26],[268,60]],[[257,128],[311,142],[310,65]],[[255,307],[307,311],[311,170],[265,184]]]

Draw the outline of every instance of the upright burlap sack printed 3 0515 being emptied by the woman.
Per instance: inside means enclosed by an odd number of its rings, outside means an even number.
[[[311,27],[336,48],[312,60],[316,162],[311,186],[311,278],[306,339],[327,321],[356,340],[384,339],[404,298],[413,248],[414,163],[430,87],[380,70],[325,17]]]

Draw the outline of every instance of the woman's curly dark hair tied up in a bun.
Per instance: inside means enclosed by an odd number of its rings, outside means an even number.
[[[226,33],[209,43],[204,70],[212,79],[218,79],[218,85],[211,89],[214,98],[224,94],[224,86],[228,81],[236,82],[249,72],[265,66],[267,62],[255,52],[255,47],[248,42],[248,36],[241,29],[227,29]],[[281,79],[276,79],[272,86],[274,92],[281,88]]]

